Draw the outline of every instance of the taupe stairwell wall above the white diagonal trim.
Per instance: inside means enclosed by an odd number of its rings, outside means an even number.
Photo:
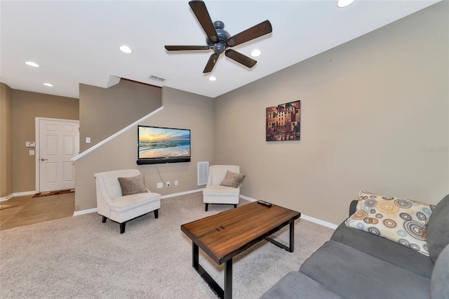
[[[80,152],[161,107],[161,93],[160,87],[126,79],[109,88],[79,84]]]

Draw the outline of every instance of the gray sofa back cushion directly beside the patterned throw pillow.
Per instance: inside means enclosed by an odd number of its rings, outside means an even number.
[[[436,263],[438,255],[449,244],[449,195],[435,206],[427,225],[427,245],[430,258]]]

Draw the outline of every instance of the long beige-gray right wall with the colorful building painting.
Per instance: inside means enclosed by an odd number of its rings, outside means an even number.
[[[216,98],[215,163],[241,166],[243,195],[334,224],[360,190],[436,203],[449,193],[448,11],[443,1]],[[265,142],[265,108],[295,100],[301,140]]]

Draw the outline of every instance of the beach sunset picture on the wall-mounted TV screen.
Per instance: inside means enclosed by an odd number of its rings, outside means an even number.
[[[139,159],[190,157],[190,131],[174,128],[139,128]]]

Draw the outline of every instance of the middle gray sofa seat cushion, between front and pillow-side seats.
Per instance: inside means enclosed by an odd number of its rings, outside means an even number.
[[[323,244],[300,272],[343,298],[430,297],[430,279],[336,241]]]

